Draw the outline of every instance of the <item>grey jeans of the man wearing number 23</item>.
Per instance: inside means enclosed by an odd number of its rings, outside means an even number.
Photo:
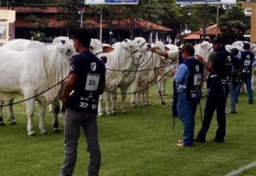
[[[82,127],[87,142],[90,161],[87,175],[98,175],[101,164],[101,152],[98,146],[96,114],[88,114],[66,109],[64,119],[65,155],[60,176],[71,176],[77,160],[78,139]]]

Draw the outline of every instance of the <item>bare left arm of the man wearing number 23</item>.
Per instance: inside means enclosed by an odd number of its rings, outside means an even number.
[[[74,90],[74,83],[77,80],[77,75],[76,74],[70,74],[69,78],[67,79],[64,89],[63,89],[63,94],[62,94],[62,104],[66,106],[66,101],[68,98],[70,98],[70,93],[72,90]]]

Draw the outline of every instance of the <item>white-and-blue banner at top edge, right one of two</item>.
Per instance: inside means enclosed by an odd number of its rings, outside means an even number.
[[[235,4],[236,0],[176,0],[176,3],[192,4]]]

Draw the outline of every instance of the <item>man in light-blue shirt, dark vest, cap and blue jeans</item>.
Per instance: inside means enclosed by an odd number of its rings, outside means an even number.
[[[193,146],[194,115],[202,96],[203,66],[194,58],[194,47],[190,44],[182,46],[182,58],[184,62],[178,66],[177,72],[173,70],[174,81],[177,82],[178,118],[184,129],[182,141],[178,141],[177,146]]]

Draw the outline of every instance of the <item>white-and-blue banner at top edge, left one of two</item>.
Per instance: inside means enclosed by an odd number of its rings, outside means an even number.
[[[134,5],[138,0],[85,0],[85,5]]]

